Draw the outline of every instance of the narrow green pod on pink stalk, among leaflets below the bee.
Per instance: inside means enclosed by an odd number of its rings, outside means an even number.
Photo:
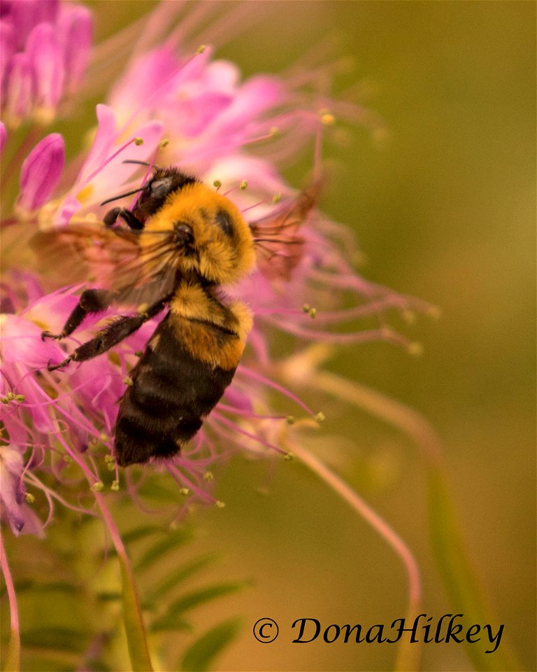
[[[145,637],[138,591],[131,568],[125,559],[118,555],[121,567],[121,584],[123,598],[123,623],[129,647],[131,666],[134,672],[152,672],[148,642]]]

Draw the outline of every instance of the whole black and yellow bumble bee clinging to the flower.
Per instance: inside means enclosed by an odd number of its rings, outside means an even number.
[[[100,229],[101,238],[119,237],[131,248],[117,263],[111,288],[86,289],[62,331],[42,333],[62,339],[87,314],[111,304],[136,307],[136,314],[115,318],[62,362],[49,362],[52,371],[108,351],[166,310],[120,399],[115,457],[121,466],[171,458],[201,428],[231,383],[252,326],[250,309],[229,300],[222,285],[252,271],[255,245],[262,272],[289,274],[303,244],[298,228],[314,202],[313,193],[304,192],[291,207],[248,225],[231,200],[174,167],[155,168],[142,188],[122,196],[137,191],[134,208],[111,209]],[[127,227],[116,225],[118,218]],[[280,253],[286,243],[293,253]]]

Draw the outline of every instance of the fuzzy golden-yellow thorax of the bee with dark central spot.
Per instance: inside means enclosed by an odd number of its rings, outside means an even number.
[[[217,223],[224,213],[231,223],[231,235]],[[174,256],[183,272],[196,272],[210,282],[233,283],[248,274],[255,265],[250,227],[238,208],[225,196],[202,183],[188,184],[171,193],[157,213],[145,222],[140,236],[142,251],[155,245],[151,232],[173,232],[176,225],[192,228],[194,253]]]

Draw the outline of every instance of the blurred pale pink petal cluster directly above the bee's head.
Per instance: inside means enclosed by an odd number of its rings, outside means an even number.
[[[113,88],[110,106],[124,128],[135,120],[157,118],[169,144],[163,162],[173,159],[197,174],[211,162],[232,157],[273,126],[271,111],[287,93],[275,77],[241,83],[227,61],[210,61],[210,49],[178,58],[170,45],[136,59]]]

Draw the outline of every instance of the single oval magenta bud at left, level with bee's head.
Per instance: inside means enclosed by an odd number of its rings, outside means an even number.
[[[31,212],[47,202],[62,174],[64,162],[65,144],[59,133],[38,142],[22,164],[17,207]]]

